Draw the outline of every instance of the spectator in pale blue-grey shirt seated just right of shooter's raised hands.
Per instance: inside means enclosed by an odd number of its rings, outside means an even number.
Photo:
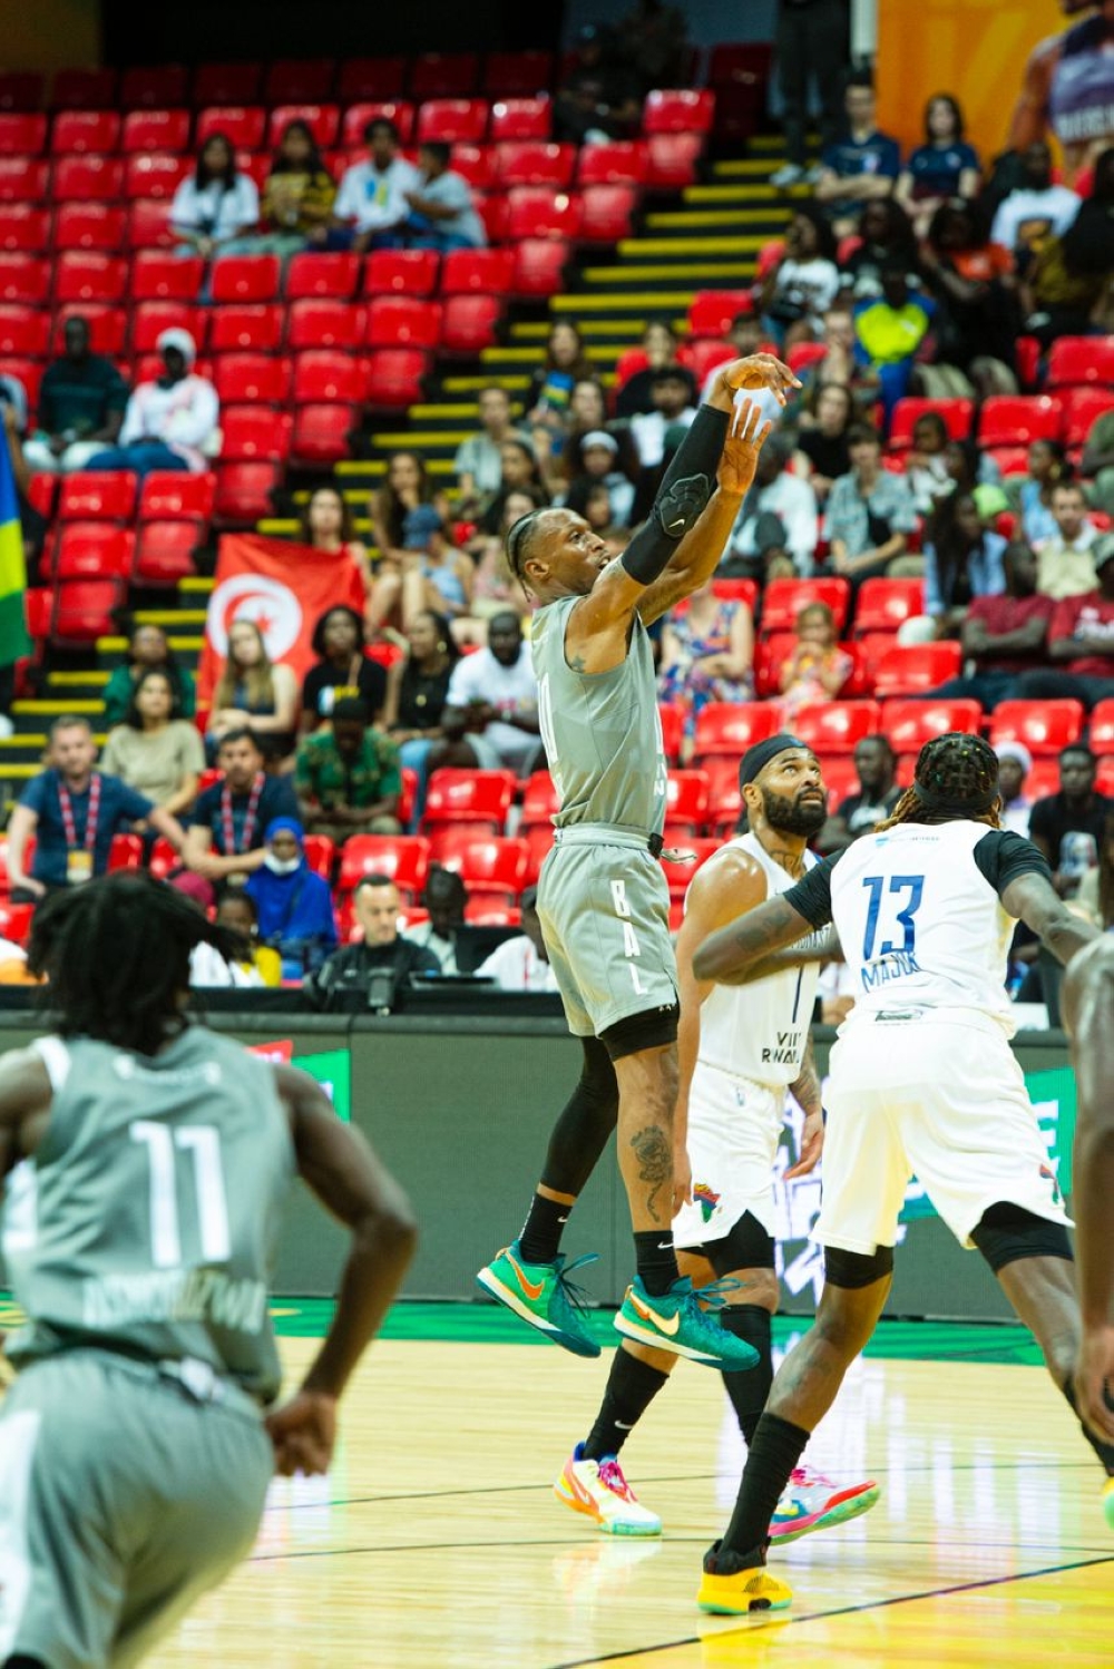
[[[832,567],[852,587],[877,574],[906,551],[917,526],[917,511],[904,476],[882,469],[882,442],[869,424],[847,434],[851,472],[832,482],[824,516],[832,547]]]

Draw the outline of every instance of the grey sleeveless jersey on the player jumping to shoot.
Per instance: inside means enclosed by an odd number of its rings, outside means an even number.
[[[610,673],[575,673],[565,661],[565,626],[579,601],[545,604],[530,636],[539,726],[560,801],[554,821],[660,834],[665,751],[650,639],[635,614],[625,661]]]

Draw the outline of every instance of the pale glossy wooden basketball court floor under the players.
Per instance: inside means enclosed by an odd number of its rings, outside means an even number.
[[[284,1340],[292,1370],[310,1350]],[[694,1604],[742,1460],[717,1375],[682,1364],[627,1445],[660,1540],[600,1537],[552,1497],[607,1365],[534,1345],[377,1345],[332,1477],[273,1485],[252,1561],[150,1662],[1114,1664],[1102,1477],[1042,1370],[861,1362],[810,1460],[869,1472],[882,1499],[785,1549],[792,1611],[740,1624]]]

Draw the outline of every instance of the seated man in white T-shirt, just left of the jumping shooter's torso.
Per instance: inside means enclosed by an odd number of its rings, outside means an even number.
[[[537,678],[517,614],[497,614],[487,628],[487,648],[457,663],[442,728],[445,746],[430,766],[479,764],[527,774],[540,734]]]

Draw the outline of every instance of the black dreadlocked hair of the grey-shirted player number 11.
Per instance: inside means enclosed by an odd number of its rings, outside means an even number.
[[[145,871],[118,871],[52,893],[35,911],[27,966],[47,975],[43,1003],[62,1036],[157,1055],[182,1028],[190,951],[243,956],[238,933]]]

